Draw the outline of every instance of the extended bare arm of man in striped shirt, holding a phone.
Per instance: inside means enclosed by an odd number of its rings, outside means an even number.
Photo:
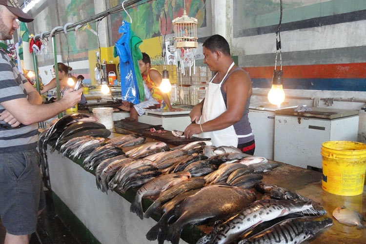
[[[78,91],[73,91],[72,89],[66,90],[60,101],[50,104],[32,104],[28,102],[26,98],[13,99],[0,102],[0,104],[11,113],[18,122],[28,125],[48,120],[74,106],[80,101],[81,93],[82,89],[79,89]]]

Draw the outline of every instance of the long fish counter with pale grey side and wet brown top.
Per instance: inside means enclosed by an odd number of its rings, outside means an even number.
[[[113,135],[113,134],[112,134]],[[146,139],[146,142],[151,139]],[[103,193],[96,186],[95,172],[82,167],[81,161],[62,158],[57,151],[49,152],[48,165],[50,184],[53,193],[55,211],[66,223],[81,243],[102,244],[153,244],[145,235],[156,224],[159,218],[141,220],[130,212],[130,202],[136,191],[128,190],[126,194],[108,191]],[[131,147],[132,148],[132,147]],[[126,148],[129,150],[130,148]],[[319,202],[327,211],[326,217],[332,218],[337,206],[346,206],[359,211],[365,216],[366,193],[354,197],[332,195],[322,190],[320,172],[283,164],[271,172],[264,173],[262,182],[276,184]],[[256,193],[261,198],[260,193]],[[146,209],[151,201],[144,199]],[[321,217],[324,218],[324,217]],[[205,226],[189,227],[183,230],[180,244],[194,244],[203,236]],[[166,243],[168,243],[166,241]],[[317,233],[314,238],[304,243],[312,244],[348,244],[366,243],[366,231],[358,230],[338,223],[333,218],[333,225]]]

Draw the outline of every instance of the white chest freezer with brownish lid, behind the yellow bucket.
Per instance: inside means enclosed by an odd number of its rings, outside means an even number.
[[[357,141],[359,112],[311,107],[275,111],[274,160],[307,168],[322,168],[322,142]]]

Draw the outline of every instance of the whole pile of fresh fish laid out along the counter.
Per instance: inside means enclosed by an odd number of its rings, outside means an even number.
[[[85,169],[95,170],[102,192],[137,189],[131,212],[141,219],[162,216],[146,234],[148,240],[178,244],[185,226],[206,224],[213,225],[212,231],[198,244],[300,243],[332,224],[310,218],[325,214],[319,203],[262,183],[263,173],[278,163],[207,141],[174,148],[144,143],[144,137],[132,134],[108,141],[109,130],[91,119],[83,114],[62,118],[40,135],[40,150],[45,154],[52,144],[62,156],[83,159]],[[253,188],[264,194],[261,200],[256,201]],[[145,213],[143,198],[154,200]]]

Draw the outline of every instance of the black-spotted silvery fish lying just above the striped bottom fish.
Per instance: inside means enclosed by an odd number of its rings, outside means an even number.
[[[235,242],[244,231],[265,221],[285,216],[291,213],[310,210],[312,205],[289,200],[256,201],[240,213],[230,218],[224,224],[215,225],[212,231],[202,237],[197,244],[227,244]]]

